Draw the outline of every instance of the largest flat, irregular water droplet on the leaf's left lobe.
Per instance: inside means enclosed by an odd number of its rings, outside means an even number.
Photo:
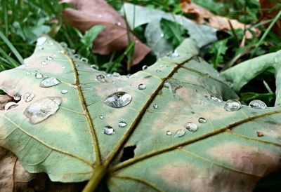
[[[30,106],[25,109],[24,114],[30,119],[31,124],[40,123],[55,114],[62,101],[60,97],[44,97],[30,104]]]

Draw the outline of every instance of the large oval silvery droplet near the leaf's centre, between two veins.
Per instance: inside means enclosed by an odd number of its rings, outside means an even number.
[[[115,92],[109,95],[105,100],[104,103],[110,107],[120,108],[124,107],[129,104],[132,100],[131,95],[124,91]]]

